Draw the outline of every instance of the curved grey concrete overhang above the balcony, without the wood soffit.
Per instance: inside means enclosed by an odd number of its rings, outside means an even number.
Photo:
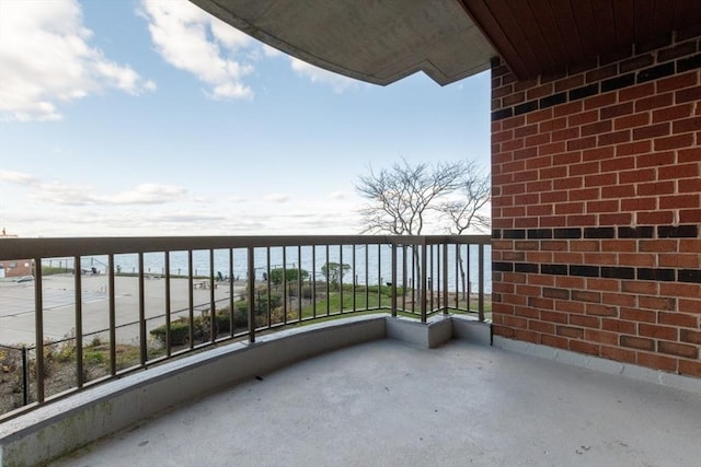
[[[445,85],[495,49],[457,0],[191,0],[317,67],[386,85],[423,71]]]

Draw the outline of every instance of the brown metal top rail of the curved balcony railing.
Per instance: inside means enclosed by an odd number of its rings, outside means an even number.
[[[3,238],[0,260],[106,254],[313,245],[490,244],[490,235],[271,235]]]

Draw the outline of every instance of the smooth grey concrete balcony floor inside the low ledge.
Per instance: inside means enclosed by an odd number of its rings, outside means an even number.
[[[287,366],[53,466],[699,466],[701,392],[451,340]]]

